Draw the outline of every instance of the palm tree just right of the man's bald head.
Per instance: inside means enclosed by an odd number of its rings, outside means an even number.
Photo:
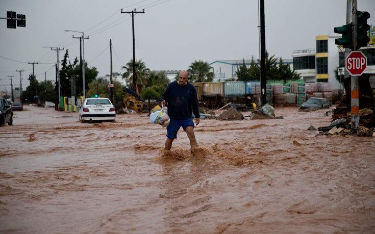
[[[189,73],[189,80],[192,82],[212,82],[214,79],[214,73],[207,62],[195,60],[189,67],[187,71]]]

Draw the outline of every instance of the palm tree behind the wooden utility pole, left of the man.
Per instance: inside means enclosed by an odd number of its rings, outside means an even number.
[[[126,72],[122,74],[122,78],[126,79],[127,84],[129,84],[129,88],[135,89],[137,95],[142,92],[142,86],[147,84],[147,75],[149,74],[150,70],[146,67],[146,64],[142,62],[142,60],[135,61],[135,84],[133,81],[133,60],[131,59],[126,66],[123,66],[122,69],[126,69]],[[132,81],[132,82],[131,82]]]

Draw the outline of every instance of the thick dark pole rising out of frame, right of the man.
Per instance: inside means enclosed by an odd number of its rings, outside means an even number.
[[[262,106],[266,105],[266,33],[264,22],[264,0],[260,0],[260,90]]]

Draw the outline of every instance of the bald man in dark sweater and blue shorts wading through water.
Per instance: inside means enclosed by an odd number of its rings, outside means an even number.
[[[167,126],[167,140],[164,149],[170,150],[172,142],[177,138],[180,127],[184,129],[189,140],[192,152],[197,149],[194,135],[192,113],[195,115],[195,125],[199,124],[199,107],[195,87],[187,83],[187,71],[181,71],[179,81],[170,83],[165,89],[161,99],[162,105],[168,104],[170,123]]]

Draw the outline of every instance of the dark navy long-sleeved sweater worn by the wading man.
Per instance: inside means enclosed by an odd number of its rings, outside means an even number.
[[[161,99],[168,104],[170,118],[189,119],[192,113],[195,118],[201,117],[195,87],[189,83],[181,86],[177,81],[173,81],[167,86]]]

